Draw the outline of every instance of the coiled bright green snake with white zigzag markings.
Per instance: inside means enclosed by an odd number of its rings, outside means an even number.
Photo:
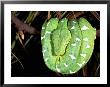
[[[89,61],[96,29],[83,17],[74,20],[51,18],[41,30],[46,66],[61,74],[78,72]]]

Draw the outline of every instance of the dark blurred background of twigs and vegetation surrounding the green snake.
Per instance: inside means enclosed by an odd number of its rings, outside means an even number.
[[[49,70],[42,56],[41,28],[52,17],[69,20],[85,17],[97,29],[91,59],[79,72],[62,75]],[[11,12],[11,76],[100,76],[100,12],[96,11],[12,11]]]

